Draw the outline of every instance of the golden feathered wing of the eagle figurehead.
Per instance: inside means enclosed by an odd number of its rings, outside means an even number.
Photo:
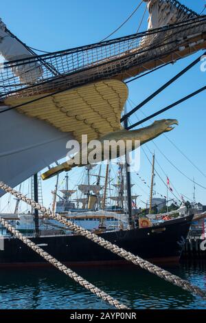
[[[102,80],[48,96],[48,93],[27,98],[7,98],[5,104],[31,118],[43,120],[62,132],[73,133],[81,142],[121,129],[120,118],[128,98],[128,87],[119,80]],[[36,100],[37,99],[37,100]],[[32,102],[30,102],[32,101]]]

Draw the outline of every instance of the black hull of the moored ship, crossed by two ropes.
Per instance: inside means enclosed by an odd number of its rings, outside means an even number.
[[[178,263],[192,217],[165,221],[144,229],[104,232],[100,236],[153,263]],[[41,236],[31,240],[60,262],[70,266],[126,263],[126,260],[112,252],[75,234]],[[1,249],[0,266],[46,264],[41,256],[16,238],[4,237]]]

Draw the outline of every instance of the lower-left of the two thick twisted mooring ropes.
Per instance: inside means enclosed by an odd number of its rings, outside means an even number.
[[[91,284],[90,282],[88,282],[87,280],[85,280],[84,278],[79,276],[78,274],[76,274],[76,272],[72,271],[71,269],[69,269],[68,267],[66,267],[62,263],[60,263],[56,258],[52,257],[50,254],[48,254],[43,249],[41,249],[41,247],[38,247],[38,245],[33,243],[30,239],[23,236],[21,234],[21,232],[16,230],[14,227],[12,227],[12,225],[10,225],[7,221],[2,219],[1,217],[0,217],[0,223],[8,231],[10,231],[12,234],[14,234],[14,236],[16,236],[16,238],[18,238],[23,243],[25,243],[25,245],[27,245],[27,247],[30,247],[32,250],[34,250],[34,252],[36,252],[36,254],[39,254],[41,257],[43,257],[45,260],[47,260],[48,263],[52,264],[58,270],[62,271],[62,273],[69,276],[69,278],[78,282],[82,287],[88,289],[89,291],[91,291],[95,295],[102,298],[102,300],[113,305],[114,307],[116,307],[116,309],[128,309],[128,307],[126,307],[124,304],[118,302],[117,300],[115,300],[115,298],[112,298],[107,293],[104,293],[104,291],[101,291],[101,289],[99,289],[98,287],[95,287],[93,284]]]

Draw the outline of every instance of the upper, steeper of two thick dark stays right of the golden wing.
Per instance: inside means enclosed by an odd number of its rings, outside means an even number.
[[[205,54],[206,54],[206,52],[203,55],[205,55]],[[152,100],[153,98],[155,98],[155,96],[157,96],[164,89],[166,89],[167,87],[169,87],[169,85],[171,85],[175,80],[177,80],[178,78],[180,78],[181,76],[183,76],[183,74],[185,74],[187,71],[189,71],[190,69],[192,69],[192,67],[194,67],[194,65],[196,65],[201,60],[201,58],[203,57],[203,55],[201,55],[198,58],[196,58],[196,60],[194,60],[192,63],[190,63],[190,65],[188,65],[187,67],[185,67],[184,69],[182,69],[178,74],[176,74],[176,76],[174,76],[173,78],[171,78],[163,86],[159,87],[159,89],[157,89],[157,91],[155,91],[150,96],[148,96],[148,98],[146,98],[146,100],[144,100],[143,102],[141,102],[140,104],[138,104],[137,107],[135,107],[133,110],[131,110],[130,112],[128,112],[125,115],[123,115],[123,117],[121,119],[121,122],[123,122],[124,120],[126,120],[126,118],[130,117],[130,115],[132,115],[133,113],[135,113],[141,107],[144,107],[144,105],[146,103],[150,102],[150,100]]]

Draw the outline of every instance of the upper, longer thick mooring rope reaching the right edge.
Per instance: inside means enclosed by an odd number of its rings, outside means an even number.
[[[187,282],[186,280],[183,280],[179,278],[178,276],[175,276],[171,274],[169,271],[166,271],[156,265],[153,265],[152,263],[148,262],[147,260],[144,260],[140,258],[139,256],[135,256],[134,254],[131,254],[130,252],[127,252],[125,249],[122,249],[118,247],[117,245],[113,245],[109,241],[104,240],[104,238],[101,238],[100,236],[93,234],[89,232],[88,230],[83,229],[82,227],[79,227],[78,225],[72,223],[71,221],[68,221],[59,214],[55,215],[52,214],[50,210],[47,210],[45,207],[43,207],[41,204],[32,201],[28,197],[25,197],[20,192],[17,192],[16,190],[13,190],[9,186],[5,185],[5,183],[0,182],[0,188],[2,190],[5,190],[5,192],[8,192],[17,199],[21,199],[25,203],[32,205],[33,208],[36,208],[37,210],[40,210],[45,214],[45,216],[49,216],[50,219],[54,219],[56,221],[59,221],[60,223],[66,225],[69,227],[71,231],[74,231],[81,236],[85,236],[89,240],[93,241],[94,243],[97,243],[98,245],[104,247],[105,249],[110,250],[114,254],[117,254],[118,256],[130,261],[131,263],[138,265],[142,269],[146,269],[150,271],[150,273],[155,274],[156,276],[171,282],[173,285],[176,285],[178,287],[181,287],[185,291],[190,291],[191,293],[196,294],[197,296],[201,296],[201,298],[204,298],[206,300],[206,293],[202,289],[200,289],[197,286],[194,286],[190,284],[190,282]]]

